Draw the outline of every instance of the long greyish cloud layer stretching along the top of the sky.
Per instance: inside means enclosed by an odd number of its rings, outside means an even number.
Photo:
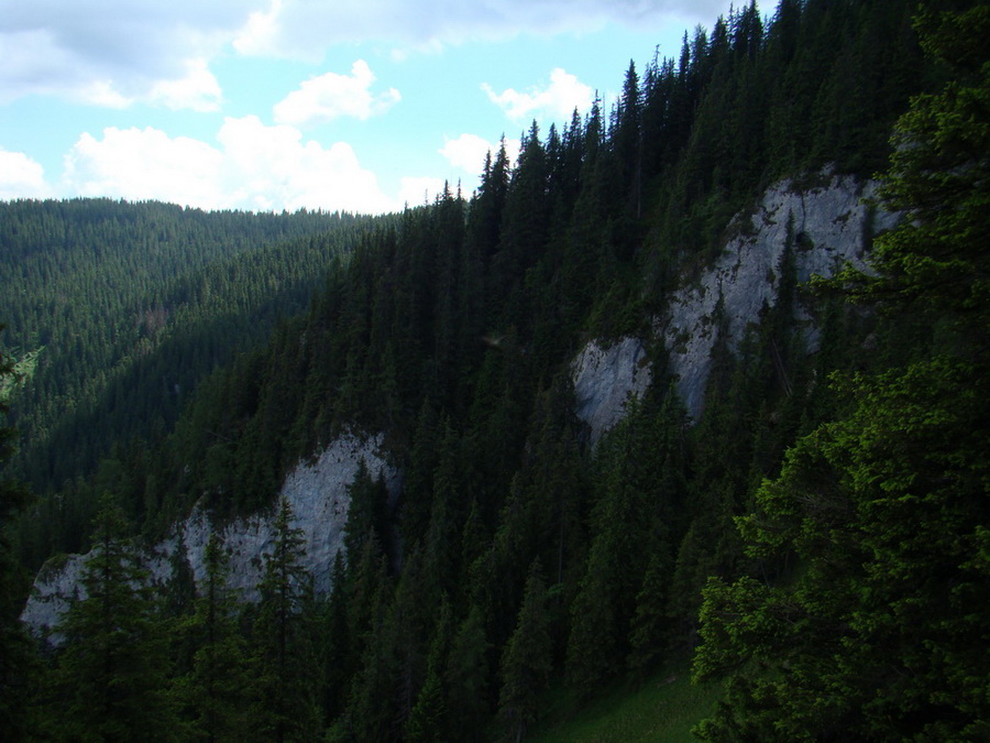
[[[318,62],[342,42],[437,50],[607,22],[690,28],[725,10],[724,0],[0,0],[0,102],[53,95],[212,109],[208,66],[231,51]]]

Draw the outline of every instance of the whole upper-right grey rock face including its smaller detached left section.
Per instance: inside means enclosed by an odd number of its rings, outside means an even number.
[[[864,203],[873,189],[873,184],[828,175],[811,188],[799,188],[792,181],[777,184],[749,216],[752,229],[740,230],[715,265],[670,297],[654,334],[667,347],[670,371],[678,376],[678,392],[692,417],[702,411],[719,317],[729,348],[735,349],[749,326],[759,321],[763,306],[777,304],[779,266],[789,240],[799,283],[814,274],[831,276],[846,262],[865,267],[869,236],[898,220],[897,215],[875,214]],[[736,223],[744,223],[744,217]],[[795,313],[813,349],[817,338],[811,319],[800,305]],[[635,338],[609,347],[591,341],[571,363],[571,374],[578,415],[591,428],[593,444],[622,418],[626,401],[642,394],[651,376],[644,346]]]

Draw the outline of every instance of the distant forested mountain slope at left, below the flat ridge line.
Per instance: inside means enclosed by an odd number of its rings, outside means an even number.
[[[0,204],[0,341],[21,361],[10,395],[18,473],[41,494],[72,492],[111,449],[142,456],[200,378],[302,312],[374,221],[108,199]],[[77,549],[92,505],[77,503],[36,549]]]

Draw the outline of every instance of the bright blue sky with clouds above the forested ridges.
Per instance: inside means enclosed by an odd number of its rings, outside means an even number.
[[[0,200],[381,214],[465,196],[722,0],[0,0]]]

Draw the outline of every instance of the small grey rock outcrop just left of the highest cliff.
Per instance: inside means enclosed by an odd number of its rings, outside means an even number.
[[[626,402],[650,385],[646,349],[638,338],[603,347],[591,341],[571,362],[578,417],[591,429],[591,444],[623,417]]]

